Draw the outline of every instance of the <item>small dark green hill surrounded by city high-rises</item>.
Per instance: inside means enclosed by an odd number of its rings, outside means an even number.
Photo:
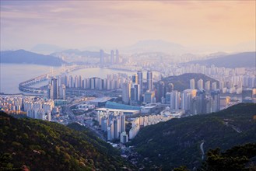
[[[198,80],[202,79],[205,82],[210,81],[217,82],[217,87],[219,87],[219,82],[216,81],[216,79],[212,79],[207,75],[199,74],[199,73],[186,73],[183,75],[177,75],[177,76],[170,76],[163,79],[163,82],[165,82],[165,85],[168,85],[169,83],[174,84],[174,89],[178,91],[183,91],[184,89],[190,89],[190,79],[195,79],[195,89],[198,89]]]

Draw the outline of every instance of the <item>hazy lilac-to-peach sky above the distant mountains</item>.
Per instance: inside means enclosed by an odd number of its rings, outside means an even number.
[[[255,42],[255,1],[2,1],[1,49]]]

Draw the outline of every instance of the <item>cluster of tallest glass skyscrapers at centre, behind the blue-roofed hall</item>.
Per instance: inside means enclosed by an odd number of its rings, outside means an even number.
[[[146,82],[143,80],[142,71],[132,75],[132,80],[127,79],[122,86],[122,100],[124,103],[132,105],[142,102],[142,94],[153,91],[153,73],[148,71],[146,74]]]

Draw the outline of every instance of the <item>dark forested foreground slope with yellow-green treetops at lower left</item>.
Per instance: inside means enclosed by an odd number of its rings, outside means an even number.
[[[78,124],[69,127],[0,113],[0,170],[127,170],[111,145]]]

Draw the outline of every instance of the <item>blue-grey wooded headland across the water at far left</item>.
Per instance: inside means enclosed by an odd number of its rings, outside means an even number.
[[[37,54],[25,50],[17,51],[1,51],[1,63],[16,63],[16,64],[34,64],[34,65],[49,65],[61,66],[66,64],[61,58],[56,58],[51,55]]]

